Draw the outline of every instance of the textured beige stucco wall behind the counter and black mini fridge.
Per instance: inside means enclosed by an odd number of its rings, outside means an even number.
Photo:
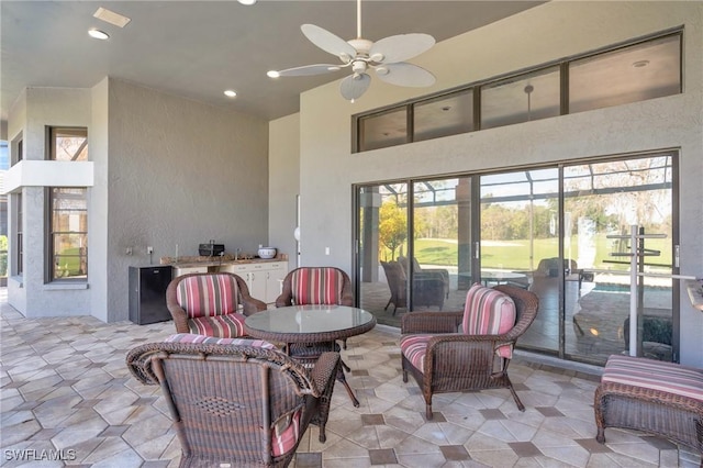
[[[109,86],[108,321],[129,316],[129,266],[268,244],[268,122],[125,81]],[[133,255],[125,254],[132,247]]]

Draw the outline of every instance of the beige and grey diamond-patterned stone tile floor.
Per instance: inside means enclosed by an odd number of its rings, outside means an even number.
[[[104,324],[93,317],[26,320],[0,290],[1,460],[7,467],[175,467],[179,444],[157,387],[124,365],[131,347],[160,341],[172,323]],[[661,438],[607,430],[594,439],[592,368],[557,368],[521,355],[507,390],[450,393],[424,401],[403,383],[395,328],[348,341],[354,408],[337,383],[320,444],[311,426],[291,466],[303,467],[695,467],[700,458]],[[598,370],[598,369],[595,369]],[[62,460],[53,460],[62,458]]]

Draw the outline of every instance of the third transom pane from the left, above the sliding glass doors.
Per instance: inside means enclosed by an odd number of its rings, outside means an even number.
[[[520,75],[481,88],[481,129],[561,113],[559,67]]]

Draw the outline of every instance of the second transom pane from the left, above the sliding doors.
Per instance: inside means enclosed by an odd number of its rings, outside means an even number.
[[[473,89],[417,102],[413,108],[414,142],[473,131]]]

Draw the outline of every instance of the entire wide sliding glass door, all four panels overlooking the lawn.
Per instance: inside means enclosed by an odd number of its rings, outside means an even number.
[[[473,282],[507,283],[539,298],[518,347],[676,361],[674,166],[665,152],[357,187],[358,304],[400,326],[464,310]]]

